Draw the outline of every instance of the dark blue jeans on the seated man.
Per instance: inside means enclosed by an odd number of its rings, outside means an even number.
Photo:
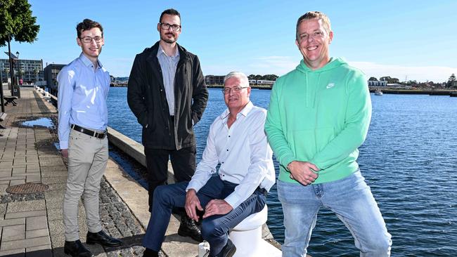
[[[155,189],[153,211],[150,215],[148,229],[143,239],[143,246],[159,251],[165,239],[173,207],[184,207],[186,204],[186,187],[188,182],[172,185],[161,185]],[[212,199],[225,199],[237,184],[221,180],[213,176],[198,192],[200,204],[205,208]],[[210,256],[219,253],[227,243],[228,230],[235,228],[241,221],[252,213],[262,211],[265,206],[266,194],[255,190],[245,202],[226,215],[214,215],[202,220],[202,237],[210,243]]]

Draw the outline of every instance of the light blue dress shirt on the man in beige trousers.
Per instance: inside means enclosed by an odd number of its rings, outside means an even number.
[[[98,60],[98,67],[81,53],[63,67],[58,81],[58,138],[60,149],[68,149],[70,124],[104,131],[108,126],[106,99],[110,74]]]

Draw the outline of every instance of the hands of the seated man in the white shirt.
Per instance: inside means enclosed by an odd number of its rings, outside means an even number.
[[[194,189],[190,189],[186,194],[186,209],[187,216],[192,218],[195,221],[198,221],[198,211],[203,211],[203,208],[200,204],[200,199],[197,197],[197,192]],[[228,204],[225,200],[221,199],[212,199],[205,207],[205,214],[203,218],[207,218],[212,215],[224,215],[233,210],[233,207]]]

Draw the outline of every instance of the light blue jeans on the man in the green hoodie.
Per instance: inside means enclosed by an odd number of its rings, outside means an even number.
[[[390,256],[391,236],[360,171],[341,180],[307,186],[278,180],[277,187],[284,212],[283,257],[307,256],[311,232],[322,206],[345,223],[360,256]]]

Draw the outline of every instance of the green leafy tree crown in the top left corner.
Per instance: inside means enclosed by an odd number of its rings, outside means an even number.
[[[0,0],[0,46],[6,45],[8,37],[27,43],[37,40],[36,22],[27,0]]]

